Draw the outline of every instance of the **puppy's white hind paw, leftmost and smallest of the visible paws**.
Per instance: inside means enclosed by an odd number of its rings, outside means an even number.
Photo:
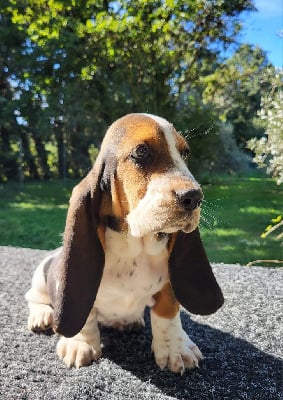
[[[28,329],[42,332],[52,328],[53,309],[47,304],[29,303]]]

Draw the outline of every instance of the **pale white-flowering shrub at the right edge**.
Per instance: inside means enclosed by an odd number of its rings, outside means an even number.
[[[283,70],[269,75],[271,89],[262,96],[259,117],[265,121],[265,136],[248,141],[254,162],[283,183]]]

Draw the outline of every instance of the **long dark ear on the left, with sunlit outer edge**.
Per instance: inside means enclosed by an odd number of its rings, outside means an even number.
[[[63,250],[56,261],[59,287],[51,291],[54,329],[66,337],[74,336],[84,326],[103,273],[104,251],[97,234],[102,170],[103,164],[98,160],[74,188]]]

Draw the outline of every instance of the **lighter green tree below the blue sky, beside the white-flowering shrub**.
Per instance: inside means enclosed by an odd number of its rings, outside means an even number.
[[[204,101],[213,102],[221,113],[221,119],[232,123],[234,136],[242,147],[245,147],[247,139],[260,137],[264,132],[255,119],[261,94],[269,86],[263,79],[267,68],[271,65],[264,51],[244,44],[213,74],[201,78]]]

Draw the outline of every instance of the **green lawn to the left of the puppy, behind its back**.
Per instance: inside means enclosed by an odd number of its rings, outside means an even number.
[[[0,245],[58,247],[75,184],[54,181],[0,186]]]

